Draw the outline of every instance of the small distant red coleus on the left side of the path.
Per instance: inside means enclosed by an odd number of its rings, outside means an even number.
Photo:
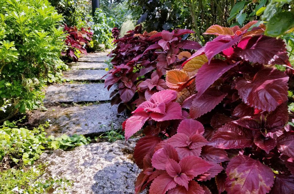
[[[79,54],[87,55],[85,46],[90,45],[93,37],[93,33],[89,29],[78,30],[76,26],[68,27],[64,24],[64,33],[68,34],[64,40],[67,49],[61,52],[62,56],[66,56],[67,60],[77,62]]]

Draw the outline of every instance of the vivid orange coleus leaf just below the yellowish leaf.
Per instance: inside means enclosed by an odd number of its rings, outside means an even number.
[[[189,78],[190,78],[189,75],[182,70],[178,70],[178,69],[169,70],[166,72],[166,85],[171,89],[178,89],[181,86],[181,84],[188,81]],[[191,80],[191,83],[192,82],[193,80]]]

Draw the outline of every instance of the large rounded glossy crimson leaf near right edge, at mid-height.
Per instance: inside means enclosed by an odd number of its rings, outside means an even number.
[[[237,90],[243,102],[251,107],[273,111],[288,100],[289,77],[274,68],[265,68],[256,73],[252,81],[240,80]]]

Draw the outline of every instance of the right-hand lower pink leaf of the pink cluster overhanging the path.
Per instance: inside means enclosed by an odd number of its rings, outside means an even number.
[[[177,102],[170,102],[166,104],[166,114],[151,112],[150,117],[155,121],[185,119],[185,117],[182,116],[182,108]]]

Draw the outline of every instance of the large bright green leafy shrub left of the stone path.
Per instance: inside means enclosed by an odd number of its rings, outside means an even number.
[[[39,106],[44,84],[64,68],[61,21],[47,0],[0,0],[0,106],[6,99],[13,104],[0,122]]]

